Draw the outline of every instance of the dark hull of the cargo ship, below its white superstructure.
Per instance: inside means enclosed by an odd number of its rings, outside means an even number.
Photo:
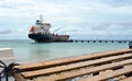
[[[52,42],[68,42],[69,35],[43,35],[43,34],[29,34],[31,39],[36,43],[52,43]]]

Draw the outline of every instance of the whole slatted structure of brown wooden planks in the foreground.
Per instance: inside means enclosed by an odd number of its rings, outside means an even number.
[[[132,49],[110,50],[15,66],[16,81],[131,81]]]

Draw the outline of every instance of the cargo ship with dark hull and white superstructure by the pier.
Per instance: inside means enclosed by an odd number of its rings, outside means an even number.
[[[51,33],[51,23],[44,23],[42,16],[40,16],[35,25],[31,26],[29,38],[35,40],[35,43],[69,42],[69,35]]]

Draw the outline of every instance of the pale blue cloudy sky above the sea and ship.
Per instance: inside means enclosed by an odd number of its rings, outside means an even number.
[[[40,15],[70,38],[132,39],[132,0],[0,0],[0,39],[29,39]]]

